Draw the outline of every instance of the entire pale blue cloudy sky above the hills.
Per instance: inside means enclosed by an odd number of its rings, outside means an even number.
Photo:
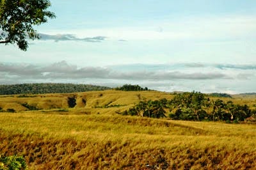
[[[51,0],[26,52],[0,45],[0,84],[68,82],[256,92],[255,0]]]

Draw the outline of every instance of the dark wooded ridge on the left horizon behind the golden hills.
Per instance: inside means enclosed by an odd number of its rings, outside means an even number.
[[[44,93],[76,93],[110,89],[104,86],[65,83],[34,83],[0,85],[0,95],[44,94]]]

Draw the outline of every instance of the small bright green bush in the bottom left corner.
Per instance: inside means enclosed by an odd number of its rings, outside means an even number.
[[[0,170],[25,170],[27,169],[26,161],[23,157],[10,156],[1,157]]]

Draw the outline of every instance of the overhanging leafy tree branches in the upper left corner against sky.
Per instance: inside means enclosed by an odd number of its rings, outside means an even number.
[[[39,39],[33,26],[53,19],[54,13],[47,11],[48,0],[1,0],[0,1],[0,43],[16,43],[20,50],[28,49],[27,38]]]

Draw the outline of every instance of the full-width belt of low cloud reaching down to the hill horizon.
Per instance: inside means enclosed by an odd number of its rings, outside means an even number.
[[[131,83],[162,91],[242,93],[256,91],[255,68],[205,63],[85,67],[66,61],[51,65],[0,63],[0,84],[71,82],[116,87]]]

